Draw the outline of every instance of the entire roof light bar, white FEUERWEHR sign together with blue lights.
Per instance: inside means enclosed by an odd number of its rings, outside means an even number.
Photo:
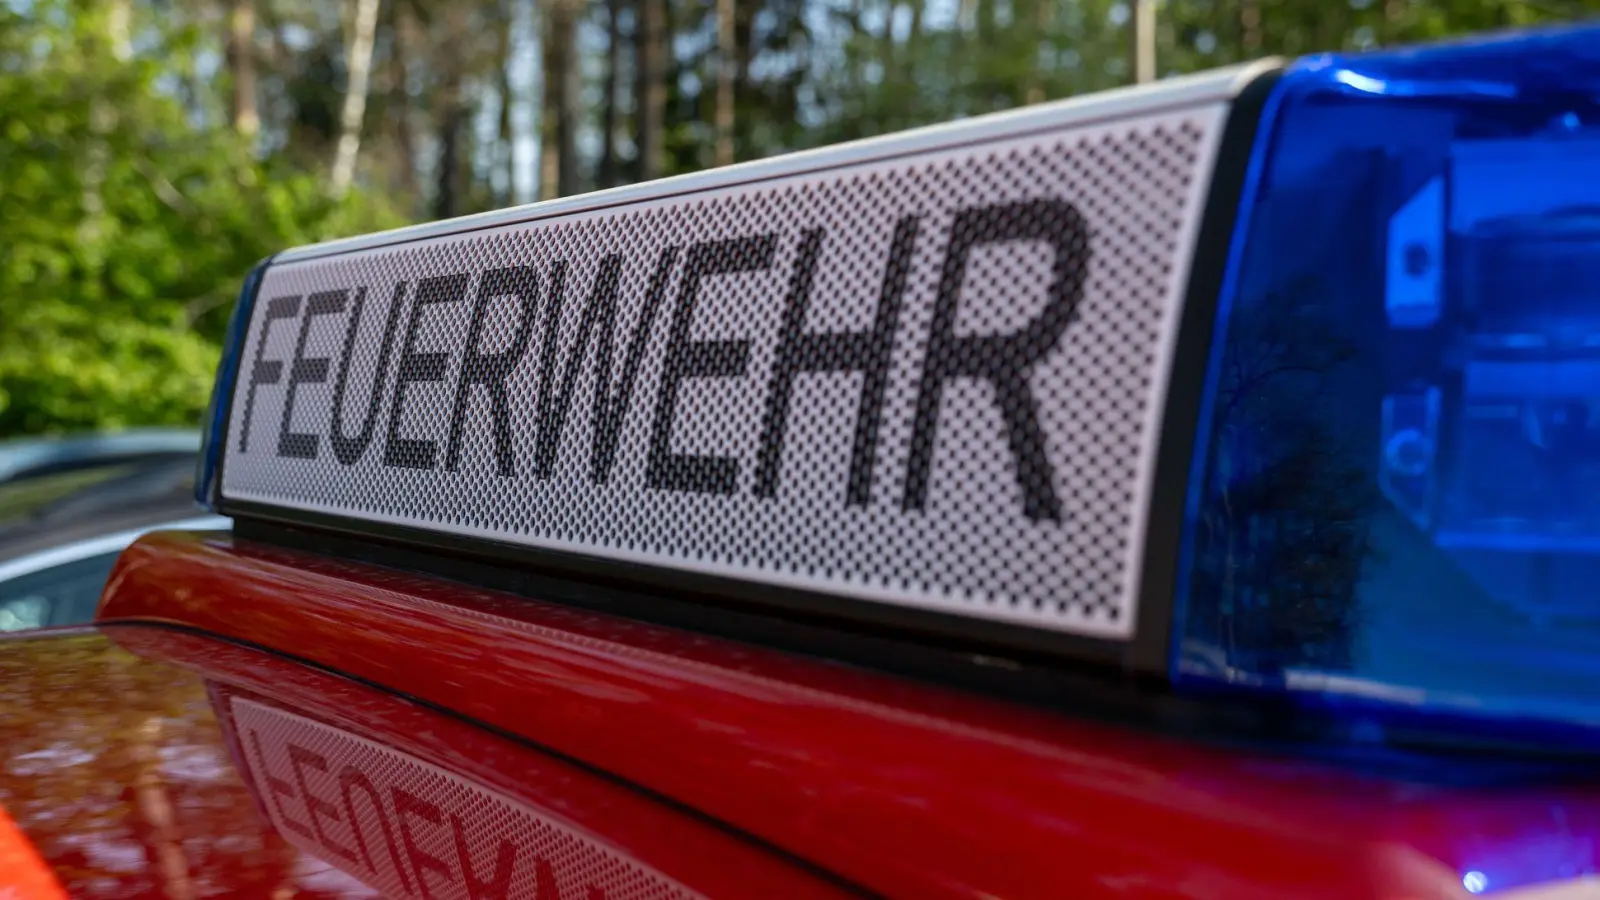
[[[1589,727],[1597,147],[1576,26],[290,250],[203,500],[1184,695]]]

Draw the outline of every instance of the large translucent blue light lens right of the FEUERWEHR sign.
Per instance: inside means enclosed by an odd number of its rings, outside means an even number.
[[[1600,724],[1600,27],[1307,58],[1262,115],[1174,684]]]

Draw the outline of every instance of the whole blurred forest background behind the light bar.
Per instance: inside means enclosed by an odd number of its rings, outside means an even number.
[[[1155,70],[1594,5],[1155,2]],[[286,245],[1126,83],[1133,19],[1126,0],[0,5],[0,436],[192,421],[240,275]]]

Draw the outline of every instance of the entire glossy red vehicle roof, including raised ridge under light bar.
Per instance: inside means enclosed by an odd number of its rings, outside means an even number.
[[[1547,773],[1205,746],[216,535],[5,650],[0,796],[72,895],[1398,900],[1600,831]]]

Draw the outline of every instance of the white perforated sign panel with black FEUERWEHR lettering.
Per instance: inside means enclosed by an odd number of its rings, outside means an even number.
[[[222,496],[1128,637],[1224,112],[272,266]]]

